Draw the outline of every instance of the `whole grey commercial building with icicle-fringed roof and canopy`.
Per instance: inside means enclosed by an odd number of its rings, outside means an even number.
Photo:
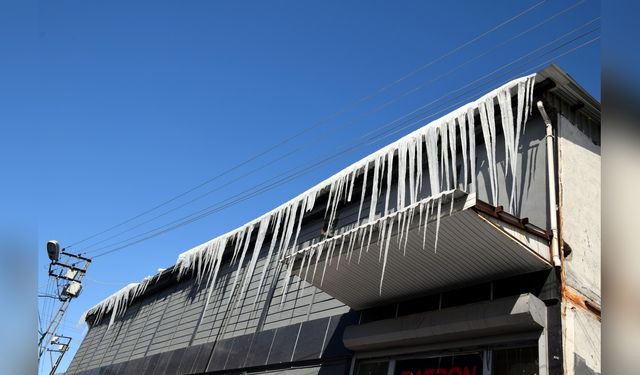
[[[552,65],[107,298],[67,373],[592,374],[600,303],[600,105]]]

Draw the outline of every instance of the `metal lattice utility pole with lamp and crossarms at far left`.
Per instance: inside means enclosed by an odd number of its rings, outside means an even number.
[[[82,291],[82,279],[87,268],[91,264],[91,259],[80,254],[67,253],[62,249],[57,241],[47,242],[47,255],[51,260],[49,263],[49,277],[53,278],[56,284],[56,296],[60,305],[53,319],[49,322],[47,329],[42,332],[38,340],[38,361],[42,360],[44,353],[49,352],[51,357],[50,375],[55,374],[64,354],[69,350],[71,337],[58,334],[58,327],[62,322],[64,314],[69,308],[73,298],[80,295]],[[55,362],[53,356],[56,356]]]

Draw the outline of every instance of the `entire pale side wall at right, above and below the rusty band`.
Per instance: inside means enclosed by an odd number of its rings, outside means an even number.
[[[558,116],[558,178],[565,282],[579,297],[601,304],[600,146],[566,117]],[[601,372],[601,322],[593,312],[563,301],[565,373]]]

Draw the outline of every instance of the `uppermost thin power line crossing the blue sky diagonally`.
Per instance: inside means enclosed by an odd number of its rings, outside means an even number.
[[[445,53],[444,55],[442,55],[442,56],[440,56],[440,57],[438,57],[438,58],[436,58],[436,59],[434,59],[434,60],[432,60],[432,61],[430,61],[430,62],[428,62],[428,63],[426,63],[424,65],[422,65],[422,66],[420,66],[419,68],[417,68],[417,69],[405,74],[404,76],[400,77],[399,79],[397,79],[397,80],[395,80],[395,81],[393,81],[391,83],[388,83],[387,85],[382,86],[378,90],[376,90],[376,91],[374,91],[374,92],[372,92],[370,94],[367,94],[367,95],[365,95],[365,96],[363,96],[363,97],[361,97],[361,98],[359,98],[359,99],[357,99],[357,100],[355,100],[353,102],[350,102],[349,104],[347,104],[346,106],[342,107],[338,111],[333,112],[329,116],[327,116],[327,117],[315,122],[310,127],[307,127],[305,129],[301,130],[300,132],[285,138],[284,140],[276,143],[275,145],[272,145],[272,146],[268,147],[267,149],[259,152],[258,154],[256,154],[256,155],[244,160],[243,162],[241,162],[239,164],[236,164],[236,165],[224,170],[223,172],[221,172],[221,173],[209,178],[208,180],[205,180],[204,182],[202,182],[202,183],[200,183],[200,184],[198,184],[198,185],[196,185],[196,186],[194,186],[194,187],[192,187],[192,188],[190,188],[190,189],[188,189],[188,190],[186,190],[186,191],[184,191],[184,192],[182,192],[182,193],[180,193],[180,194],[178,194],[178,195],[176,195],[176,196],[174,196],[174,197],[172,197],[172,198],[170,198],[168,200],[165,200],[162,203],[151,207],[150,209],[147,209],[147,210],[143,211],[140,214],[137,214],[137,215],[135,215],[135,216],[133,216],[133,217],[131,217],[129,219],[126,219],[126,220],[124,220],[124,221],[122,221],[122,222],[120,222],[118,224],[115,224],[115,225],[113,225],[113,226],[111,226],[111,227],[109,227],[109,228],[107,228],[105,230],[102,230],[100,232],[94,233],[94,234],[92,234],[92,235],[90,235],[88,237],[85,237],[85,238],[83,238],[83,239],[81,239],[79,241],[71,243],[71,244],[67,245],[66,248],[71,248],[71,247],[76,246],[76,245],[78,245],[80,243],[83,243],[83,242],[85,242],[87,240],[95,238],[95,237],[97,237],[99,235],[107,233],[107,232],[109,232],[109,231],[111,231],[113,229],[116,229],[116,228],[119,228],[119,227],[121,227],[121,226],[123,226],[125,224],[128,224],[128,223],[130,223],[130,222],[132,222],[132,221],[134,221],[134,220],[136,220],[136,219],[138,219],[138,218],[140,218],[140,217],[142,217],[142,216],[144,216],[144,215],[146,215],[148,213],[151,213],[151,212],[157,210],[158,208],[164,207],[167,204],[169,204],[171,202],[174,202],[174,201],[184,197],[185,195],[187,195],[187,194],[189,194],[189,193],[191,193],[191,192],[193,192],[193,191],[195,191],[195,190],[197,190],[197,189],[199,189],[199,188],[211,183],[214,180],[217,180],[217,179],[219,179],[219,178],[221,178],[221,177],[223,177],[223,176],[225,176],[225,175],[237,170],[240,167],[243,167],[246,164],[251,163],[252,161],[262,157],[263,155],[266,155],[266,154],[270,153],[271,151],[277,149],[278,147],[280,147],[280,146],[292,141],[293,139],[296,139],[296,138],[306,134],[307,132],[319,127],[320,125],[333,120],[334,118],[336,118],[336,117],[338,117],[338,116],[350,111],[352,108],[355,108],[356,106],[360,105],[361,103],[364,103],[364,102],[366,102],[366,101],[368,101],[368,100],[380,95],[381,93],[387,91],[388,89],[398,85],[400,82],[405,81],[406,79],[408,79],[408,78],[420,73],[421,71],[427,69],[428,67],[430,67],[430,66],[442,61],[443,59],[455,54],[456,52],[468,47],[469,45],[477,42],[478,40],[484,38],[485,36],[491,34],[492,32],[494,32],[496,30],[499,30],[500,28],[510,24],[511,22],[515,21],[516,19],[518,19],[518,18],[530,13],[534,9],[538,8],[540,5],[544,4],[545,2],[546,2],[546,0],[542,0],[542,1],[539,1],[539,2],[537,2],[535,4],[533,4],[532,6],[524,9],[523,11],[517,13],[516,15],[512,16],[511,18],[499,23],[498,25],[490,28],[489,30],[481,33],[480,35],[475,36],[474,38],[470,39],[469,41],[467,41],[467,42],[459,45],[458,47],[452,49],[451,51]]]

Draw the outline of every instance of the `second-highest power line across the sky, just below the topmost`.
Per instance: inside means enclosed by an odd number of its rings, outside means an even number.
[[[418,86],[415,86],[415,87],[411,88],[410,90],[408,90],[408,91],[405,91],[405,92],[401,93],[399,96],[397,96],[397,97],[395,97],[395,98],[393,98],[393,99],[391,99],[391,100],[389,100],[389,101],[387,101],[387,102],[383,103],[382,105],[380,105],[380,106],[378,106],[378,107],[375,107],[374,109],[372,109],[372,110],[370,110],[370,111],[366,112],[364,115],[362,115],[362,116],[358,117],[357,119],[354,119],[354,120],[352,120],[352,121],[349,121],[349,122],[347,122],[347,123],[345,123],[345,124],[341,124],[341,125],[338,125],[338,126],[334,126],[334,127],[332,127],[332,128],[329,128],[329,129],[328,129],[327,131],[325,131],[325,132],[324,132],[320,137],[317,137],[317,138],[314,138],[314,139],[312,139],[312,140],[309,140],[308,142],[303,143],[302,145],[298,146],[297,148],[295,148],[295,149],[293,149],[293,150],[291,150],[291,151],[289,151],[289,152],[287,152],[287,153],[285,153],[285,154],[283,154],[283,155],[280,155],[279,157],[277,157],[277,158],[275,158],[275,159],[272,159],[271,161],[267,162],[266,164],[263,164],[263,165],[258,166],[257,168],[254,168],[253,170],[251,170],[251,171],[250,171],[250,172],[248,172],[248,173],[242,174],[242,175],[240,175],[240,176],[238,176],[238,177],[236,177],[236,178],[234,178],[234,179],[232,179],[232,180],[230,180],[230,181],[228,181],[228,182],[226,182],[226,183],[224,183],[224,184],[222,184],[222,185],[220,185],[220,186],[217,186],[217,187],[216,187],[216,188],[214,188],[214,189],[210,189],[210,190],[208,190],[208,191],[204,192],[203,194],[200,194],[200,195],[196,196],[195,198],[192,198],[192,199],[190,199],[190,200],[188,200],[188,201],[186,201],[186,202],[181,203],[180,205],[178,205],[178,206],[176,206],[176,207],[173,207],[173,208],[171,208],[171,209],[169,209],[169,210],[166,210],[166,211],[164,211],[164,212],[162,212],[162,213],[160,213],[160,214],[158,214],[158,215],[155,215],[155,216],[153,216],[153,217],[151,217],[151,218],[149,218],[149,219],[146,219],[146,220],[144,220],[144,221],[142,221],[142,222],[136,223],[136,224],[135,224],[134,226],[132,226],[132,227],[129,227],[129,228],[125,229],[125,230],[119,231],[119,232],[117,232],[117,233],[115,233],[115,234],[113,234],[113,235],[110,235],[110,236],[108,236],[108,237],[105,237],[105,238],[103,238],[103,239],[101,239],[101,240],[99,240],[99,241],[96,241],[96,242],[94,242],[94,243],[91,243],[91,244],[89,244],[89,245],[86,245],[86,246],[84,246],[83,250],[86,252],[87,250],[89,250],[89,249],[91,249],[91,248],[93,248],[93,247],[95,247],[95,246],[97,246],[97,245],[99,245],[99,244],[105,243],[105,242],[107,242],[107,241],[109,241],[109,240],[111,240],[111,239],[117,238],[117,237],[119,237],[119,236],[121,236],[121,235],[123,235],[123,234],[126,234],[126,233],[128,233],[128,232],[131,232],[132,230],[135,230],[135,229],[137,229],[137,228],[139,228],[139,227],[141,227],[141,226],[143,226],[143,225],[145,225],[145,224],[148,224],[148,223],[150,223],[150,222],[152,222],[152,221],[155,221],[155,220],[157,220],[157,219],[159,219],[159,218],[161,218],[161,217],[163,217],[163,216],[166,216],[166,215],[168,215],[168,214],[170,214],[170,213],[172,213],[172,212],[175,212],[175,211],[177,211],[178,209],[180,209],[180,208],[182,208],[182,207],[185,207],[185,206],[187,206],[187,205],[189,205],[189,204],[191,204],[191,203],[194,203],[194,202],[196,202],[196,201],[198,201],[198,200],[200,200],[200,199],[202,199],[202,198],[204,198],[204,197],[206,197],[206,196],[208,196],[208,195],[210,195],[210,194],[212,194],[212,193],[214,193],[214,192],[220,191],[221,189],[223,189],[223,188],[225,188],[225,187],[227,187],[227,186],[230,186],[231,184],[233,184],[233,183],[235,183],[235,182],[237,182],[237,181],[239,181],[239,180],[242,180],[242,179],[244,179],[244,178],[246,178],[246,177],[248,177],[248,176],[250,176],[250,175],[252,175],[252,174],[254,174],[254,173],[257,173],[257,172],[259,172],[259,171],[262,171],[262,170],[264,170],[264,168],[266,168],[266,167],[269,167],[269,166],[274,165],[275,163],[277,163],[277,162],[279,162],[279,161],[281,161],[281,160],[284,160],[284,159],[286,159],[286,158],[288,158],[288,157],[291,157],[291,156],[293,156],[294,154],[296,154],[296,153],[298,153],[298,152],[300,152],[300,151],[302,151],[302,150],[305,150],[305,149],[306,149],[306,146],[308,146],[308,145],[310,145],[310,144],[316,144],[316,143],[318,142],[318,140],[326,139],[326,138],[328,138],[329,136],[331,136],[333,133],[335,133],[335,132],[336,132],[336,131],[338,131],[338,130],[343,130],[343,129],[346,129],[346,128],[348,128],[348,127],[351,127],[352,125],[356,124],[356,123],[357,123],[357,122],[359,122],[360,120],[362,120],[362,119],[364,119],[364,118],[366,118],[366,117],[368,117],[368,116],[370,116],[370,115],[372,115],[372,114],[374,114],[374,113],[379,112],[380,110],[382,110],[382,109],[386,108],[387,106],[389,106],[390,104],[392,104],[392,103],[394,103],[394,102],[398,101],[399,99],[402,99],[403,97],[405,97],[405,96],[407,96],[407,95],[409,95],[409,94],[411,94],[411,93],[414,93],[414,92],[416,92],[416,91],[418,91],[418,90],[424,89],[424,88],[425,88],[425,87],[427,87],[429,84],[432,84],[432,83],[434,83],[434,82],[437,82],[438,80],[440,80],[440,79],[442,79],[442,78],[444,78],[444,77],[446,77],[446,76],[448,76],[448,75],[451,75],[451,74],[455,73],[456,71],[458,71],[458,70],[460,70],[461,68],[463,68],[464,66],[466,66],[466,65],[468,65],[468,64],[470,64],[470,63],[472,63],[472,62],[474,62],[474,61],[476,61],[476,60],[478,60],[479,58],[482,58],[482,57],[484,57],[484,56],[488,55],[489,53],[491,53],[491,52],[493,52],[493,51],[495,51],[495,50],[497,50],[497,49],[499,49],[499,48],[503,47],[504,45],[506,45],[506,44],[508,44],[508,43],[510,43],[510,42],[512,42],[512,41],[514,41],[514,40],[516,40],[517,38],[522,37],[523,35],[525,35],[525,34],[527,34],[527,33],[530,33],[530,32],[532,32],[532,31],[534,31],[534,30],[538,29],[539,27],[543,26],[544,24],[546,24],[546,23],[548,23],[548,22],[552,21],[553,19],[555,19],[555,18],[557,18],[557,17],[561,16],[562,14],[564,14],[564,13],[566,13],[566,12],[568,12],[568,11],[570,11],[570,10],[572,10],[572,9],[576,8],[577,6],[579,6],[579,5],[583,4],[585,1],[586,1],[586,0],[580,0],[580,1],[577,1],[576,3],[572,4],[572,5],[571,5],[571,6],[569,6],[568,8],[565,8],[564,10],[562,10],[562,11],[560,11],[560,12],[558,12],[558,13],[553,14],[552,16],[550,16],[550,17],[546,18],[545,20],[543,20],[542,22],[539,22],[539,23],[537,23],[537,24],[535,24],[535,25],[533,25],[533,26],[529,27],[528,29],[526,29],[526,30],[524,30],[524,31],[522,31],[522,32],[520,32],[520,33],[518,33],[518,34],[515,34],[515,35],[511,36],[511,37],[510,37],[510,38],[508,38],[507,40],[505,40],[505,41],[503,41],[503,42],[501,42],[501,43],[499,43],[499,44],[496,44],[496,45],[494,45],[493,47],[491,47],[491,48],[489,48],[489,49],[487,49],[487,50],[484,50],[484,51],[483,51],[482,53],[480,53],[479,55],[476,55],[476,56],[474,56],[474,57],[472,57],[472,58],[470,58],[470,59],[466,59],[463,63],[456,65],[455,67],[453,67],[452,69],[449,69],[449,70],[448,70],[448,71],[446,71],[445,73],[442,73],[442,74],[440,74],[440,75],[438,75],[438,76],[436,76],[436,77],[434,77],[434,78],[432,78],[432,79],[429,79],[429,80],[427,80],[427,81],[425,81],[425,82],[422,82],[422,83],[421,83],[421,84],[419,84]],[[585,26],[585,25],[583,25],[583,26],[581,26],[581,27],[584,27],[584,26]],[[412,113],[413,113],[413,112],[412,112]],[[410,115],[410,114],[412,114],[412,113],[409,113],[408,115]]]

